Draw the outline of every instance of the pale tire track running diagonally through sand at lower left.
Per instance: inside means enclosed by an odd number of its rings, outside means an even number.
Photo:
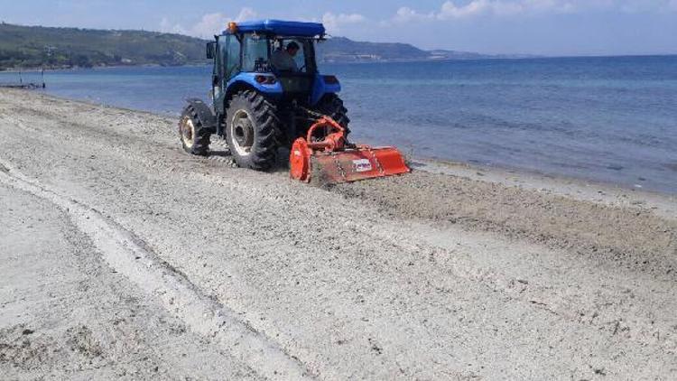
[[[219,304],[181,273],[162,261],[134,235],[77,200],[17,172],[0,160],[0,182],[48,200],[65,211],[74,225],[102,253],[107,265],[125,275],[144,292],[200,335],[217,341],[249,367],[271,379],[315,378],[301,361],[285,353],[272,339],[254,330],[236,313]]]

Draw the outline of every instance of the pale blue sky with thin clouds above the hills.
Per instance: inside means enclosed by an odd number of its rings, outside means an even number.
[[[677,54],[677,0],[0,0],[0,21],[210,38],[229,21],[317,21],[357,41],[560,55]]]

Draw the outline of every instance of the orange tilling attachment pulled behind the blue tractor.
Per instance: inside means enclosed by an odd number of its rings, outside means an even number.
[[[325,136],[318,139],[317,133]],[[358,181],[410,172],[394,147],[349,144],[346,130],[329,116],[321,116],[308,130],[307,138],[292,145],[289,163],[292,179],[331,183]]]

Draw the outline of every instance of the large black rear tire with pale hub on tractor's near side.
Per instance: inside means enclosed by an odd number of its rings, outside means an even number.
[[[275,164],[280,119],[277,109],[253,90],[238,92],[226,113],[226,136],[237,165],[266,171]]]

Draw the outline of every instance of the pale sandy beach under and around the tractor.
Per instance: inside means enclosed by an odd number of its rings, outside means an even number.
[[[0,90],[0,379],[677,379],[677,200],[413,159],[312,187]]]

